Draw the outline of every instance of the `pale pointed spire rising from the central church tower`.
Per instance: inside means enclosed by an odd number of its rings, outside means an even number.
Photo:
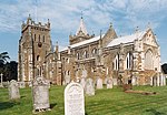
[[[79,28],[78,28],[78,30],[77,30],[77,32],[76,32],[76,35],[77,35],[79,32],[82,32],[85,35],[88,34],[87,29],[86,29],[86,25],[85,25],[85,22],[84,22],[82,14],[81,14],[81,18],[80,18],[80,24],[79,24]]]

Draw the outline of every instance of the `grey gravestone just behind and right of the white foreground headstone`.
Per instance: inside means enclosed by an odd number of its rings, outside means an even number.
[[[95,95],[95,85],[92,79],[87,79],[85,91],[88,96]]]

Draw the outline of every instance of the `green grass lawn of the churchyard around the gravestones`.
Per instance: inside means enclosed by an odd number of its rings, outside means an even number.
[[[51,86],[51,111],[38,115],[63,115],[63,86]],[[86,96],[86,115],[167,115],[167,86],[136,86],[134,90],[157,92],[156,95],[127,94],[120,87],[97,90]],[[21,98],[9,101],[8,90],[0,88],[0,115],[31,115],[31,88],[20,90]]]

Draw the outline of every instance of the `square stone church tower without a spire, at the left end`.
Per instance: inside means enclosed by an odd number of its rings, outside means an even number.
[[[21,25],[19,40],[18,81],[29,82],[36,76],[43,76],[43,62],[52,52],[50,39],[50,22],[36,23],[29,15]]]

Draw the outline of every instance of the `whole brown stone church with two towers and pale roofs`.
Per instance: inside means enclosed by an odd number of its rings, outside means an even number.
[[[29,82],[41,75],[53,84],[68,84],[81,77],[111,77],[115,85],[165,85],[160,69],[160,46],[148,27],[130,35],[118,36],[110,24],[99,35],[89,34],[84,19],[69,45],[52,48],[50,22],[35,23],[29,17],[22,23],[19,40],[19,81]]]

